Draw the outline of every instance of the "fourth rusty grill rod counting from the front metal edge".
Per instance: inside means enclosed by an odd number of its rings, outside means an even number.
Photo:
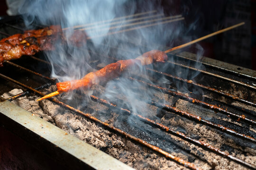
[[[135,80],[135,81],[138,81],[138,82],[140,82],[140,83],[146,84],[146,85],[148,85],[148,86],[150,86],[150,87],[153,87],[153,88],[155,88],[155,89],[157,89],[157,90],[161,90],[161,91],[163,91],[163,92],[165,92],[165,93],[169,93],[169,94],[171,94],[171,95],[173,95],[173,96],[177,96],[177,97],[179,97],[180,99],[186,100],[186,101],[188,101],[188,102],[196,103],[196,104],[202,105],[202,106],[204,106],[204,107],[207,107],[207,108],[209,108],[209,109],[216,110],[216,111],[220,111],[221,113],[224,113],[224,114],[226,114],[226,115],[228,115],[228,116],[231,116],[231,117],[233,117],[233,118],[236,118],[237,120],[243,120],[243,121],[246,121],[247,123],[251,123],[251,124],[256,125],[256,120],[248,119],[245,115],[237,115],[237,114],[232,113],[232,112],[230,112],[230,111],[228,111],[228,110],[225,110],[225,109],[223,109],[223,108],[221,108],[221,107],[218,107],[218,106],[213,105],[213,104],[209,104],[209,103],[207,103],[207,102],[200,101],[200,100],[198,100],[198,99],[192,98],[192,97],[187,96],[187,95],[185,95],[185,94],[178,93],[178,92],[175,92],[175,91],[172,91],[172,90],[170,90],[170,89],[167,89],[167,88],[164,88],[164,87],[160,87],[160,86],[157,86],[157,85],[152,85],[152,84],[150,84],[150,83],[144,82],[144,81],[142,81],[142,80],[135,79],[135,78],[133,78],[133,77],[129,77],[129,78],[130,78],[131,80]]]

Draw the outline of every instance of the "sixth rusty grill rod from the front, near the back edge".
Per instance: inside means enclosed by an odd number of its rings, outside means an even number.
[[[246,87],[249,87],[249,88],[252,88],[252,89],[255,89],[256,90],[256,86],[253,86],[253,85],[249,85],[247,83],[244,83],[244,82],[241,82],[241,81],[237,81],[237,80],[233,80],[232,78],[228,78],[228,77],[224,77],[224,76],[220,76],[220,75],[217,75],[217,74],[214,74],[214,73],[210,73],[208,71],[205,71],[205,70],[201,70],[201,69],[198,69],[198,68],[193,68],[191,66],[187,66],[187,65],[184,65],[184,64],[180,64],[180,63],[176,63],[176,62],[173,62],[173,61],[166,61],[168,63],[171,63],[171,64],[174,64],[176,66],[180,66],[180,67],[183,67],[183,68],[189,68],[189,69],[192,69],[192,70],[195,70],[195,71],[199,71],[201,73],[204,73],[204,74],[207,74],[207,75],[210,75],[210,76],[215,76],[217,78],[220,78],[220,79],[223,79],[223,80],[227,80],[227,81],[230,81],[232,83],[236,83],[238,85],[243,85],[243,86],[246,86]]]

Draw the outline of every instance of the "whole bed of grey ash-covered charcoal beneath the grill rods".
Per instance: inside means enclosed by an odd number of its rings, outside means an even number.
[[[51,86],[47,90],[54,91],[56,90],[55,88],[55,86]],[[90,100],[90,94],[103,97],[104,90],[105,87],[95,85],[92,87],[92,91],[86,92],[83,96],[81,96],[81,94],[77,95],[76,93],[73,93],[73,98],[83,98],[83,100],[77,100],[83,102],[74,102],[73,100],[65,100],[65,102],[85,113],[91,113],[96,118],[105,121],[114,127],[120,128],[135,137],[139,137],[150,144],[156,145],[175,156],[186,161],[193,162],[203,170],[247,169],[233,161],[223,158],[220,155],[209,152],[205,148],[198,147],[190,142],[180,139],[177,136],[167,134],[160,129],[152,127],[128,113],[110,109],[107,106]],[[113,102],[118,101],[116,104],[120,105],[120,107],[128,107],[125,106],[125,104],[122,104],[125,103],[126,98],[120,92],[120,89],[117,86],[114,86],[114,91],[118,93],[118,95],[116,96],[116,100]],[[14,89],[9,93],[5,93],[4,97],[8,98],[9,96],[20,92],[20,90]],[[143,97],[143,95],[139,94],[138,96]],[[184,167],[166,159],[161,154],[155,153],[140,144],[134,143],[124,136],[115,134],[113,131],[95,124],[95,122],[66,110],[48,100],[35,102],[35,99],[37,98],[38,96],[27,96],[16,99],[13,102],[135,169],[184,169]],[[158,102],[172,103],[172,105],[178,109],[189,111],[204,119],[219,119],[218,115],[214,111],[204,109],[193,103],[180,99],[177,100],[177,98],[172,97],[171,95],[154,91],[152,99]],[[134,99],[134,102],[142,104],[140,97]],[[158,123],[172,128],[173,130],[180,131],[194,139],[207,142],[214,147],[219,148],[221,151],[227,152],[239,159],[255,165],[255,144],[241,144],[239,143],[240,139],[237,140],[235,137],[227,135],[219,130],[199,124],[177,114],[161,110],[160,108],[147,103],[144,103],[143,106],[144,107],[137,108],[136,111],[138,114],[153,119]],[[238,125],[239,123],[237,126]],[[250,130],[250,133],[255,132],[252,128]]]

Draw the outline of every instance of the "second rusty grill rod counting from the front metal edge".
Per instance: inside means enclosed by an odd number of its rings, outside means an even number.
[[[131,112],[130,110],[120,108],[120,107],[118,107],[116,104],[111,103],[111,102],[108,102],[108,101],[106,101],[106,100],[104,100],[104,99],[101,99],[101,98],[99,98],[99,97],[96,97],[96,96],[94,96],[94,95],[91,95],[90,97],[91,97],[91,99],[92,99],[93,101],[95,101],[95,102],[99,102],[99,103],[101,103],[101,104],[103,104],[103,105],[105,105],[105,106],[107,106],[107,107],[109,107],[109,108],[112,108],[112,109],[121,110],[121,111],[124,111],[124,112],[126,112],[126,113],[128,113],[128,114],[132,114],[132,115],[136,116],[137,118],[139,118],[140,120],[142,120],[142,121],[144,121],[144,122],[146,122],[146,123],[148,123],[148,124],[150,124],[150,125],[153,125],[153,126],[155,126],[155,127],[158,127],[158,128],[160,128],[160,129],[162,129],[162,130],[164,130],[164,131],[166,131],[166,132],[171,133],[172,135],[178,136],[178,137],[180,137],[181,139],[184,139],[184,140],[186,140],[186,141],[188,141],[188,142],[191,142],[191,143],[193,143],[193,144],[196,144],[196,145],[198,145],[198,146],[200,146],[200,147],[205,147],[205,148],[209,149],[210,151],[212,151],[212,152],[214,152],[214,153],[217,153],[217,154],[219,154],[219,155],[221,155],[221,156],[223,156],[223,157],[228,158],[228,159],[231,160],[231,161],[235,161],[235,162],[237,162],[237,163],[240,163],[241,165],[246,166],[246,167],[248,167],[248,168],[256,169],[256,166],[251,165],[251,164],[249,164],[249,163],[247,163],[246,161],[243,161],[243,160],[241,160],[241,159],[238,159],[238,158],[236,158],[236,157],[230,155],[230,154],[227,153],[227,152],[220,151],[218,148],[212,146],[212,145],[209,144],[209,143],[206,143],[206,142],[203,142],[203,141],[200,141],[200,140],[193,139],[193,138],[191,138],[191,137],[189,137],[189,136],[186,136],[185,134],[183,134],[183,133],[181,133],[181,132],[179,132],[179,131],[175,131],[175,130],[171,129],[171,127],[164,126],[164,125],[162,125],[162,124],[160,124],[160,123],[155,122],[154,120],[145,118],[145,117],[143,117],[143,116],[141,116],[141,115],[139,115],[139,114],[137,114],[137,113],[133,113],[133,112]]]

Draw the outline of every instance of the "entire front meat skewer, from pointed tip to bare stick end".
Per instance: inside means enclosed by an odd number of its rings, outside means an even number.
[[[80,80],[73,80],[73,81],[67,81],[67,82],[61,82],[61,83],[57,83],[57,91],[47,94],[44,97],[38,99],[37,101],[40,101],[42,99],[46,99],[52,96],[55,96],[59,93],[63,93],[63,92],[67,92],[67,91],[71,91],[80,87],[87,87],[90,88],[92,85],[96,85],[99,82],[103,82],[106,81],[108,79],[113,79],[116,76],[119,76],[119,74],[121,72],[123,72],[124,70],[128,69],[129,67],[133,66],[135,63],[140,62],[140,64],[142,66],[144,65],[148,65],[148,64],[152,64],[153,62],[164,62],[168,57],[166,55],[166,53],[171,52],[171,51],[175,51],[184,47],[187,47],[193,43],[202,41],[206,38],[209,38],[211,36],[223,33],[225,31],[228,31],[230,29],[236,28],[238,26],[242,26],[245,23],[242,22],[240,24],[234,25],[234,26],[230,26],[228,28],[219,30],[217,32],[214,32],[212,34],[208,34],[205,35],[201,38],[198,38],[196,40],[193,40],[191,42],[187,42],[185,44],[182,44],[180,46],[171,48],[169,50],[166,51],[159,51],[159,50],[152,50],[152,51],[148,51],[145,52],[144,54],[142,54],[141,56],[137,57],[136,59],[132,59],[132,60],[119,60],[116,63],[112,63],[107,65],[106,67],[95,71],[95,72],[91,72],[88,73],[86,76],[84,76],[84,78],[80,79]],[[119,64],[118,64],[119,63]],[[115,66],[115,67],[114,67]]]

